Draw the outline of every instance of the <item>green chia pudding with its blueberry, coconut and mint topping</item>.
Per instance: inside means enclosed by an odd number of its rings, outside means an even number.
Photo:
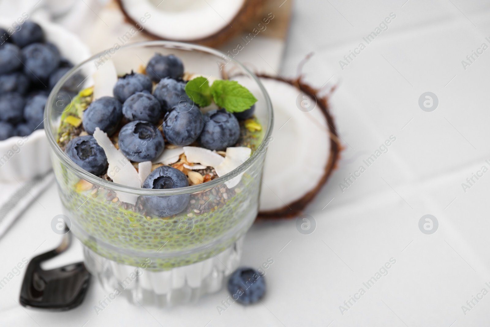
[[[207,261],[219,265],[218,259],[224,267],[205,273],[201,265],[197,279],[220,269],[226,276],[236,268],[226,260],[238,264],[237,242],[257,215],[272,118],[269,98],[239,63],[230,59],[226,68],[249,77],[246,86],[216,64],[216,58],[223,60],[218,51],[175,44],[127,46],[128,53],[140,54],[136,60],[147,60],[136,61],[136,67],[116,56],[106,62],[117,71],[112,92],[100,92],[110,78],[87,78],[61,113],[53,96],[48,101],[59,195],[73,233],[92,257],[86,259],[89,266],[98,262],[105,270],[112,264],[175,275],[177,268]],[[124,56],[124,48],[117,56]],[[95,60],[72,74],[91,71]],[[131,69],[121,72],[127,66]],[[233,263],[223,257],[232,252]]]

